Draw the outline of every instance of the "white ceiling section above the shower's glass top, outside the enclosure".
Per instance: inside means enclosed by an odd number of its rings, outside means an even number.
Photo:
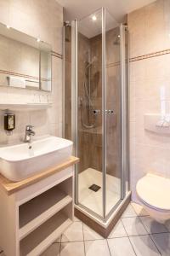
[[[155,0],[56,0],[65,8],[65,20],[82,19],[100,7],[106,7],[111,15],[122,22],[126,14],[144,7]]]

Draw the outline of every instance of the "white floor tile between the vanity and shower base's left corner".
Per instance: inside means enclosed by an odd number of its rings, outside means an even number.
[[[61,236],[61,242],[83,241],[82,222],[74,222]]]

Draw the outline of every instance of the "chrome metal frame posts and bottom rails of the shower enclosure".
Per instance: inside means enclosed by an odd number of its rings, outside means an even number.
[[[127,26],[120,26],[120,56],[121,56],[121,90],[122,90],[122,172],[121,172],[121,199],[114,205],[109,213],[106,214],[106,73],[105,73],[105,8],[102,8],[102,176],[103,176],[103,215],[99,216],[96,212],[88,209],[79,203],[78,199],[78,164],[75,167],[75,203],[79,209],[87,212],[89,215],[98,218],[102,222],[107,222],[109,218],[120,206],[122,201],[129,196],[129,188],[126,189],[127,172],[129,172],[128,166],[128,84],[126,78],[126,56],[125,56],[125,29]],[[77,20],[71,22],[71,134],[74,141],[74,154],[77,156],[78,145],[78,47],[77,47]],[[129,183],[129,180],[127,181]]]

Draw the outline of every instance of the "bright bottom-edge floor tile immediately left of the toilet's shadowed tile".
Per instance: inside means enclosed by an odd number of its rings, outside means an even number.
[[[111,256],[135,256],[128,237],[108,239]]]

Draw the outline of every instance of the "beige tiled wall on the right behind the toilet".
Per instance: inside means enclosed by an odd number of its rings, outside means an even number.
[[[170,103],[170,0],[158,0],[128,15],[130,33],[130,168],[133,200],[140,177],[154,172],[170,177],[170,135],[144,130],[144,113],[161,113],[160,90]],[[132,58],[143,56],[141,60]],[[170,109],[169,109],[170,112]]]

